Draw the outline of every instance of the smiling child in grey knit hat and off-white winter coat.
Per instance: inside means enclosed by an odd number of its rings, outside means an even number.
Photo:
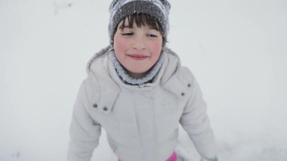
[[[73,109],[68,161],[90,161],[101,127],[119,161],[179,161],[179,123],[202,161],[216,143],[199,85],[166,48],[167,0],[113,0],[110,45],[87,65]]]

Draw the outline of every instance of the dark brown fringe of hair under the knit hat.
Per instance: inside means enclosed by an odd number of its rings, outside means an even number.
[[[148,27],[155,29],[156,31],[161,32],[161,35],[162,35],[161,24],[153,16],[146,15],[146,14],[135,14],[135,15],[127,16],[127,20],[128,20],[128,27],[129,28],[132,28],[133,23],[136,22],[137,27],[140,28],[142,26],[147,25]],[[126,22],[126,17],[123,19],[123,23],[119,27],[122,30],[125,28],[125,22]],[[116,30],[117,30],[117,28],[116,28]],[[164,47],[165,43],[167,43],[166,37],[162,36],[162,47]]]

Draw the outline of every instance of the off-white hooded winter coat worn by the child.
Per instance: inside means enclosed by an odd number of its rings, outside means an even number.
[[[122,161],[165,161],[178,144],[179,123],[198,152],[216,155],[206,104],[194,75],[165,49],[161,70],[152,83],[127,85],[109,59],[109,48],[87,65],[73,109],[68,161],[90,161],[101,127]]]

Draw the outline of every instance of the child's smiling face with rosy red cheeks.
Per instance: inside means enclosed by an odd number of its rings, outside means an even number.
[[[126,68],[127,73],[133,78],[143,77],[148,70],[158,61],[162,49],[161,32],[149,28],[147,25],[128,27],[128,20],[122,30],[117,27],[114,35],[114,51],[119,62]]]

